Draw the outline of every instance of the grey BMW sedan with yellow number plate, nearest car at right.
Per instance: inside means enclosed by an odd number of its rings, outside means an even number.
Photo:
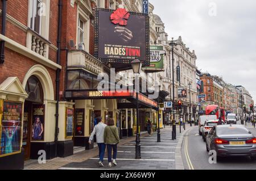
[[[205,139],[207,151],[215,150],[217,159],[226,156],[256,158],[256,138],[243,125],[217,125]]]

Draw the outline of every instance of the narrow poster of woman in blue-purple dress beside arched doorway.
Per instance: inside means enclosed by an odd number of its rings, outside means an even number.
[[[32,141],[44,140],[44,105],[33,105]]]

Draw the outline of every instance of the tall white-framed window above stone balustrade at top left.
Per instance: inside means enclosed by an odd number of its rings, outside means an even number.
[[[42,33],[42,15],[40,13],[43,7],[42,0],[30,0],[30,28],[41,35]]]

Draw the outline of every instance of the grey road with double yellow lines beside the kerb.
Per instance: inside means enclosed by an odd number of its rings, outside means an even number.
[[[248,125],[248,124],[247,124]],[[249,127],[256,136],[256,129]],[[202,136],[199,136],[198,127],[185,134],[182,145],[182,158],[186,170],[255,170],[256,161],[250,157],[221,158],[216,164],[210,164],[209,155]]]

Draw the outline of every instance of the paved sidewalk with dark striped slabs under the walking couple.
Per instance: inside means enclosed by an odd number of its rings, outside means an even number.
[[[24,169],[27,170],[184,170],[181,158],[181,145],[186,130],[176,126],[177,140],[171,139],[172,128],[166,126],[161,129],[161,142],[157,142],[157,133],[151,136],[144,133],[141,136],[141,159],[135,159],[135,137],[124,138],[118,144],[117,166],[108,167],[107,151],[104,158],[104,167],[98,165],[98,149],[84,150],[67,158],[54,158],[39,164],[36,160],[25,162]]]

